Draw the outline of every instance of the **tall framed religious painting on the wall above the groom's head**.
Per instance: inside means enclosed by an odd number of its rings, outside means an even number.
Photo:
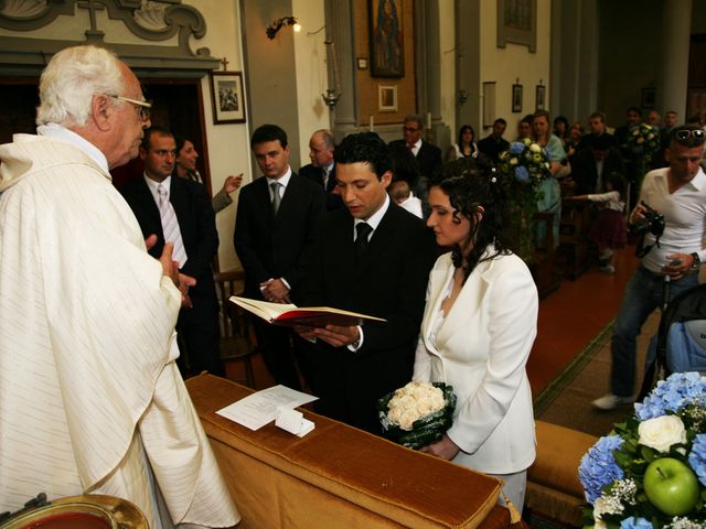
[[[368,0],[371,75],[404,77],[403,0]]]

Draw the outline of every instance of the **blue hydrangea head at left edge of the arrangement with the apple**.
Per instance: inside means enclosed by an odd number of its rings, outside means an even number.
[[[578,467],[578,478],[584,486],[586,500],[593,504],[601,489],[616,479],[622,479],[624,473],[616,463],[613,451],[622,446],[620,435],[607,435],[589,449]]]

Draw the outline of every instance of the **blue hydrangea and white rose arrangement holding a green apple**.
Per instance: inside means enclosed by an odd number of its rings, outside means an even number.
[[[706,527],[706,377],[659,382],[588,451],[579,479],[596,528]]]

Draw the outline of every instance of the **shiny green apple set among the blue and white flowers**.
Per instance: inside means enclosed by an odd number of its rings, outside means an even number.
[[[686,515],[698,500],[698,481],[694,472],[674,457],[650,463],[643,483],[648,499],[668,516]]]

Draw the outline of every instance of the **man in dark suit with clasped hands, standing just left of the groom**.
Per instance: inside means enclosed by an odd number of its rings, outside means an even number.
[[[302,261],[313,228],[325,212],[323,187],[289,166],[287,133],[276,125],[255,130],[250,148],[264,176],[243,187],[233,240],[245,269],[245,295],[275,303],[299,303]],[[277,384],[301,389],[295,355],[309,384],[303,344],[292,332],[254,319],[267,369]]]

